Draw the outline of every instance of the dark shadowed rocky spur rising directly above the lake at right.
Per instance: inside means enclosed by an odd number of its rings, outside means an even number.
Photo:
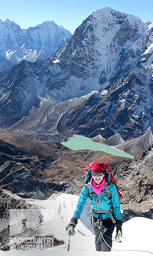
[[[149,72],[134,68],[105,95],[104,90],[95,93],[69,112],[65,125],[69,131],[90,138],[101,135],[107,144],[108,138],[118,133],[124,141],[138,138],[152,125],[152,95]]]

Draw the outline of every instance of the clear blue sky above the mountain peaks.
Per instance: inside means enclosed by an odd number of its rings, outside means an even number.
[[[73,34],[89,13],[108,5],[153,22],[151,0],[0,0],[0,19],[13,19],[22,29],[54,20]]]

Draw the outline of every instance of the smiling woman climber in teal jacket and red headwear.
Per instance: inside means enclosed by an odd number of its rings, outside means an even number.
[[[116,186],[110,181],[110,173],[105,163],[94,162],[87,171],[85,186],[81,190],[73,218],[66,227],[68,236],[74,234],[74,227],[87,200],[91,200],[91,227],[95,234],[97,251],[111,251],[112,233],[116,226],[116,239],[121,234],[120,201]]]

